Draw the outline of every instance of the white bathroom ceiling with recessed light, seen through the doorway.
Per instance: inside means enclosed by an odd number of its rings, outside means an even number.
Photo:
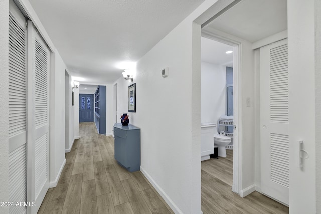
[[[201,38],[202,62],[233,67],[233,53],[226,54],[226,51],[233,51],[233,47],[215,40]]]

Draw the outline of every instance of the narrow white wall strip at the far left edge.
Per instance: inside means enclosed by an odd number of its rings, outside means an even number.
[[[0,1],[0,201],[9,201],[8,181],[8,129],[9,129],[9,1]],[[1,213],[8,213],[8,207],[1,207]]]

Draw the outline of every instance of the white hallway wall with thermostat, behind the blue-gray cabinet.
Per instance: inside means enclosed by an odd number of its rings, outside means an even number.
[[[191,61],[189,19],[138,61],[134,75],[136,113],[128,113],[129,123],[141,128],[141,171],[176,213],[201,213],[200,142],[197,139],[192,147],[191,133]],[[161,75],[165,67],[169,67],[167,78]],[[122,77],[117,81],[119,116],[128,112],[130,84]],[[198,87],[200,91],[200,84]],[[198,106],[200,109],[200,102]],[[197,124],[200,129],[200,117]],[[197,161],[196,167],[192,161]]]

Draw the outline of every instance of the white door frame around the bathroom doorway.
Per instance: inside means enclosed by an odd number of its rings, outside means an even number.
[[[241,48],[242,43],[221,35],[202,30],[201,36],[233,46],[233,105],[234,105],[234,141],[233,141],[233,185],[232,191],[242,194],[242,105],[241,105]],[[236,128],[235,128],[236,127]]]

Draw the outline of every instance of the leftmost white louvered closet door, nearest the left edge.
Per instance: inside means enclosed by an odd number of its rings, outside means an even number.
[[[27,28],[16,5],[9,5],[9,213],[26,213],[27,201]]]

